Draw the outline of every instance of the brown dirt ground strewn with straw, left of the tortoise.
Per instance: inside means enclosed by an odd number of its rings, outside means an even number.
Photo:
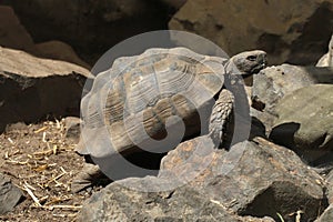
[[[95,191],[74,194],[70,190],[84,162],[73,150],[75,143],[77,139],[65,137],[63,120],[17,123],[0,135],[0,172],[26,196],[0,221],[75,221]]]

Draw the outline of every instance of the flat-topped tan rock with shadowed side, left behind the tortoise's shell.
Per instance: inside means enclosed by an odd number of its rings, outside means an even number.
[[[88,70],[0,48],[0,131],[6,124],[79,115]]]

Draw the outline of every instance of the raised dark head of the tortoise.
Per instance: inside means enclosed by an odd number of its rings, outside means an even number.
[[[231,67],[230,67],[231,65]],[[226,67],[226,71],[242,75],[254,74],[266,65],[266,52],[261,50],[245,51],[233,56]],[[238,70],[234,70],[233,68]],[[241,73],[239,73],[241,72]]]

